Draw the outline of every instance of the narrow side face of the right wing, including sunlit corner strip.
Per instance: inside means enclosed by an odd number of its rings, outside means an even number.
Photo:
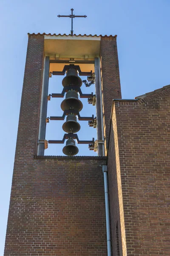
[[[116,129],[115,106],[111,120],[108,147],[108,186],[111,218],[112,252],[114,256],[126,255],[125,223],[119,164],[119,145]],[[114,131],[114,133],[113,133]],[[116,230],[117,229],[117,230]]]

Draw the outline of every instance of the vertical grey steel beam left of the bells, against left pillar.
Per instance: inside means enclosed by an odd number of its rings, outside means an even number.
[[[50,67],[50,58],[47,56],[45,57],[44,79],[42,82],[42,99],[41,99],[41,107],[40,107],[40,130],[39,130],[40,140],[45,140],[49,67]],[[38,155],[39,156],[44,155],[44,143],[39,144]]]

